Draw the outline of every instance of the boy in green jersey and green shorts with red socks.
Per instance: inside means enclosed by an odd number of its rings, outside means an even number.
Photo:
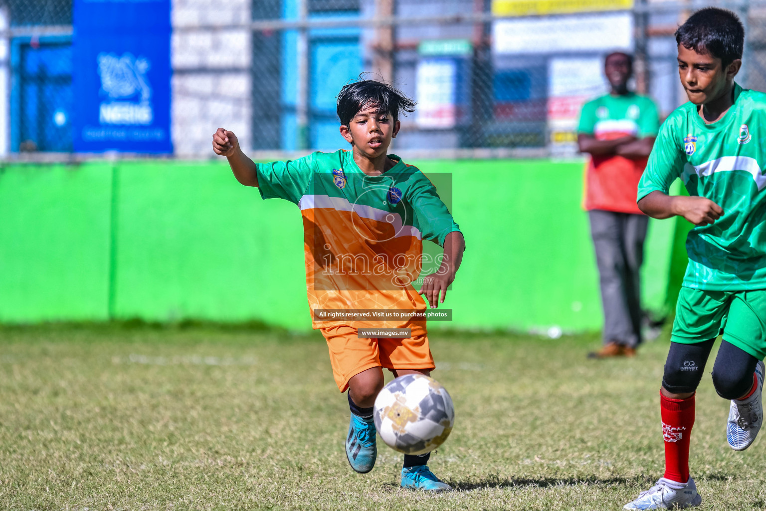
[[[732,400],[726,440],[745,450],[761,428],[766,355],[766,94],[742,89],[745,31],[720,8],[697,11],[676,31],[681,84],[689,103],[660,129],[638,190],[654,218],[696,224],[676,306],[660,388],[665,474],[625,509],[699,506],[689,477],[694,392],[716,336],[715,390]],[[668,194],[677,177],[689,197]]]

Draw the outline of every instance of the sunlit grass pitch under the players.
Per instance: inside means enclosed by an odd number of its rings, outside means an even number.
[[[598,343],[434,332],[457,419],[430,467],[457,491],[427,495],[399,489],[381,441],[352,472],[319,335],[2,329],[0,509],[620,509],[662,475],[668,341],[586,360]],[[764,509],[764,440],[727,447],[714,355],[692,436],[701,509]]]

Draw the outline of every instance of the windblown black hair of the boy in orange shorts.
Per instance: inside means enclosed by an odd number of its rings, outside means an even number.
[[[338,119],[342,126],[349,126],[354,116],[365,106],[372,105],[378,112],[390,113],[394,122],[399,114],[415,111],[415,102],[393,85],[378,80],[361,80],[344,85],[338,93]]]

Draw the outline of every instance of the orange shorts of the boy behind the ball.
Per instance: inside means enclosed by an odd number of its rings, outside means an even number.
[[[332,376],[341,392],[349,388],[349,380],[365,369],[434,369],[434,357],[428,348],[426,329],[412,328],[411,339],[357,339],[352,326],[323,328],[332,364]]]

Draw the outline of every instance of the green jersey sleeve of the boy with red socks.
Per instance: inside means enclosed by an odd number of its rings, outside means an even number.
[[[647,168],[644,169],[641,180],[638,182],[636,201],[640,201],[655,190],[667,194],[670,185],[683,172],[686,159],[683,148],[676,142],[676,131],[672,120],[666,120],[660,128],[660,134],[654,141]]]

